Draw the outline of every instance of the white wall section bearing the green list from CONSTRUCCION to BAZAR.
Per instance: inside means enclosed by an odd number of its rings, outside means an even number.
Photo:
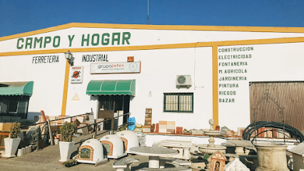
[[[219,91],[235,91],[236,95],[218,95],[234,98],[235,103],[219,103],[219,125],[238,130],[250,124],[249,82],[253,81],[304,81],[304,43],[278,43],[246,46],[222,46],[220,48],[253,47],[253,51],[218,53],[218,56],[250,54],[248,59],[218,59],[218,70],[245,69],[248,73],[219,73],[218,78],[246,76],[246,81],[218,81],[238,83],[238,88],[221,88]],[[220,63],[247,62],[247,66],[220,66]],[[237,124],[235,124],[237,123]]]

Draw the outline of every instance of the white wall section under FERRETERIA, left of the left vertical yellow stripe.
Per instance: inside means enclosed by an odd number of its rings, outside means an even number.
[[[59,56],[59,62],[35,63],[34,56]],[[40,114],[61,115],[66,59],[64,53],[0,57],[0,82],[34,81],[29,99],[29,117]]]

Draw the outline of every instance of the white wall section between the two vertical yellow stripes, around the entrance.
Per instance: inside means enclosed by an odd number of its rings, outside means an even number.
[[[89,63],[81,61],[83,54],[88,53],[74,53],[75,66],[84,66],[84,76],[82,84],[69,83],[66,115],[96,109],[96,100],[86,95],[89,81],[136,79],[136,96],[130,102],[131,117],[135,117],[136,122],[144,123],[146,108],[152,108],[152,123],[176,121],[176,126],[188,129],[203,129],[202,123],[208,124],[212,118],[211,47],[106,52],[108,62],[123,62],[127,56],[134,56],[135,61],[141,61],[141,73],[91,75]],[[176,75],[191,75],[193,86],[176,88]],[[80,100],[71,100],[75,93]],[[194,93],[194,113],[163,113],[163,93]]]

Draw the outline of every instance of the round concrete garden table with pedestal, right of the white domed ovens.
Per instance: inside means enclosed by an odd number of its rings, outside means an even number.
[[[178,151],[166,147],[131,147],[130,152],[149,156],[149,168],[159,168],[159,157],[171,157],[178,154]]]

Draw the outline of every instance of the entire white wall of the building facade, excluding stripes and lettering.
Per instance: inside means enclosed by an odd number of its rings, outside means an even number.
[[[41,33],[28,37],[60,36],[60,46],[54,48],[52,43],[46,48],[17,49],[18,38],[0,41],[0,53],[33,51],[61,48],[94,48],[108,46],[81,46],[83,34],[93,33],[122,33],[130,32],[129,45],[144,46],[163,45],[171,43],[196,43],[207,41],[246,40],[257,38],[298,37],[303,33],[270,33],[245,31],[168,31],[168,30],[141,30],[121,28],[67,28],[49,33]],[[75,35],[69,46],[69,35]],[[24,37],[26,38],[26,37]],[[25,40],[25,39],[24,39]],[[91,41],[90,41],[91,42]],[[235,103],[219,103],[219,125],[237,130],[246,127],[249,123],[250,81],[303,81],[303,43],[280,43],[267,45],[248,45],[253,51],[218,53],[250,54],[250,59],[220,60],[221,62],[239,61],[248,62],[248,66],[218,66],[218,70],[246,69],[248,73],[218,73],[218,78],[230,76],[246,76],[246,81],[218,81],[218,83],[238,83],[238,88],[218,88],[219,91],[235,91],[235,95],[219,95],[219,98],[234,98]],[[161,47],[161,46],[159,46]],[[159,48],[158,47],[158,48]],[[220,48],[243,47],[222,46]],[[89,49],[88,49],[89,51]],[[73,52],[74,66],[83,66],[84,76],[82,84],[69,82],[66,115],[78,115],[91,112],[96,113],[97,100],[86,95],[86,86],[91,80],[131,80],[136,79],[136,97],[131,99],[130,112],[136,117],[138,123],[143,123],[146,108],[153,109],[152,123],[159,120],[174,120],[176,126],[187,129],[209,128],[208,120],[213,117],[213,76],[212,76],[212,48],[172,48],[153,49],[143,51],[101,51],[101,52]],[[82,55],[106,54],[108,62],[124,62],[127,56],[134,56],[135,61],[141,61],[141,73],[123,74],[90,74],[90,62],[83,62]],[[0,81],[34,81],[34,92],[29,102],[29,113],[40,113],[44,110],[46,115],[61,115],[62,93],[64,90],[65,62],[63,53],[50,53],[59,56],[59,63],[33,63],[34,56],[1,56]],[[5,74],[3,74],[5,73]],[[193,86],[185,89],[176,88],[176,75],[191,75]],[[71,76],[71,74],[70,74]],[[69,78],[71,78],[69,76]],[[148,94],[151,92],[152,97]],[[193,113],[163,113],[163,93],[194,93]],[[72,100],[74,95],[80,100]],[[237,122],[237,123],[236,123]]]

